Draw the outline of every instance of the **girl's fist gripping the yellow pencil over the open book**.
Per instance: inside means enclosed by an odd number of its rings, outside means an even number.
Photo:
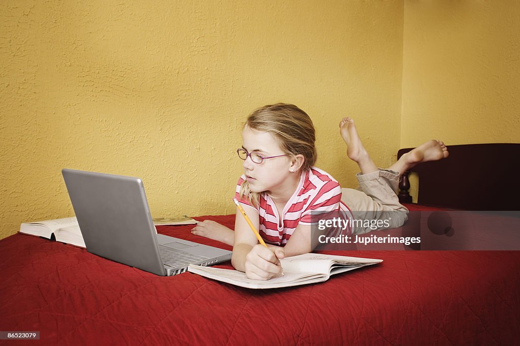
[[[245,275],[256,280],[268,280],[280,275],[283,272],[278,259],[283,257],[283,248],[270,250],[263,245],[255,245],[245,257]]]

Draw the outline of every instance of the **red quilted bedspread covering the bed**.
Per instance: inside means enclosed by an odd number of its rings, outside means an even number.
[[[510,148],[516,157],[518,146]],[[458,150],[450,147],[451,158]],[[430,165],[427,172],[436,168]],[[469,180],[466,175],[465,184]],[[425,185],[420,176],[419,196],[430,206],[408,203],[410,210],[464,209],[451,203],[449,194],[440,202],[424,199]],[[514,209],[500,210],[520,210],[518,203],[510,206]],[[230,228],[234,218],[196,217]],[[190,228],[158,230],[230,249],[192,235]],[[22,234],[0,240],[0,247],[0,329],[40,331],[38,344],[520,344],[518,251],[413,251],[402,245],[395,251],[344,249],[339,253],[384,262],[320,284],[250,290],[191,273],[159,277]]]

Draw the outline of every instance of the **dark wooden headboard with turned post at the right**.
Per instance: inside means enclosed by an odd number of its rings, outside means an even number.
[[[412,148],[400,149],[397,158]],[[520,144],[448,146],[450,156],[410,171],[419,175],[418,204],[461,210],[520,210]],[[399,200],[411,202],[408,173]]]

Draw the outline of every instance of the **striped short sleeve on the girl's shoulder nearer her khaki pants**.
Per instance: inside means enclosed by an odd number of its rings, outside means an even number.
[[[341,187],[336,181],[329,181],[321,186],[308,207],[303,211],[300,224],[312,225],[317,222],[313,215],[327,214],[327,218],[334,217],[339,212],[341,203]],[[323,216],[320,216],[323,217]]]

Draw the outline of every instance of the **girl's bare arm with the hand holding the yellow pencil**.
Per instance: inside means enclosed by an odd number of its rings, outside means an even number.
[[[253,225],[258,229],[258,211],[251,207],[245,207],[244,209]],[[237,208],[235,244],[233,244],[233,253],[231,255],[233,267],[236,270],[245,272],[251,279],[270,279],[281,273],[281,265],[278,258],[283,258],[283,249],[275,249],[275,252],[258,244],[251,227]]]

